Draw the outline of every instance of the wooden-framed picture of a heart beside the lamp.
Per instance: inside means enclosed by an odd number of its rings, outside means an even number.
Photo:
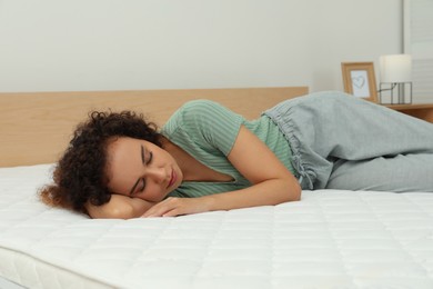
[[[341,69],[345,92],[356,98],[377,102],[373,62],[343,62]]]

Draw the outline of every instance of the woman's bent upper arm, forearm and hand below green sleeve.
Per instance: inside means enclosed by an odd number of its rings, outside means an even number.
[[[230,162],[253,185],[249,188],[200,198],[168,198],[143,217],[171,217],[213,210],[230,210],[295,201],[301,187],[276,156],[250,130],[241,126]]]

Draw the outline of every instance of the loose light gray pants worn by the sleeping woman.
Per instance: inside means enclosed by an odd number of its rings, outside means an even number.
[[[264,112],[293,151],[303,189],[433,191],[433,124],[338,91]]]

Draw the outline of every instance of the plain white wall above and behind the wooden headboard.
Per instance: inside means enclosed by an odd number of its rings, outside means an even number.
[[[309,86],[402,52],[401,0],[0,0],[0,91]]]

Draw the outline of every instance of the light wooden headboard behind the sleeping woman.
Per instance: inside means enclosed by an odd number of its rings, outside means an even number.
[[[54,162],[91,110],[135,110],[162,126],[185,101],[211,99],[252,119],[306,92],[306,87],[288,87],[0,93],[0,167]]]

